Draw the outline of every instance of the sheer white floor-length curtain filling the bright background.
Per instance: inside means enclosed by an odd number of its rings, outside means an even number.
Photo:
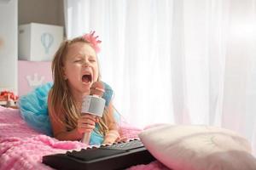
[[[66,0],[67,37],[96,31],[102,80],[138,127],[209,124],[256,149],[256,0]]]

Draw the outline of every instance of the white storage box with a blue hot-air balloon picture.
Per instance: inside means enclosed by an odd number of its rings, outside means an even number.
[[[31,23],[19,26],[21,60],[50,61],[63,40],[63,26]]]

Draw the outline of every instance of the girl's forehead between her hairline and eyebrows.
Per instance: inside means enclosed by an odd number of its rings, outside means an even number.
[[[96,57],[95,50],[86,42],[74,42],[67,50],[67,57],[77,55],[88,55]]]

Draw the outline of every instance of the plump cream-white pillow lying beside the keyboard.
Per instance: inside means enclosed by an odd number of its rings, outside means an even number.
[[[153,127],[139,133],[145,147],[173,170],[256,170],[247,139],[220,127]]]

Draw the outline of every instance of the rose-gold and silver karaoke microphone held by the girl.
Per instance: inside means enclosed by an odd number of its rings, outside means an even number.
[[[93,82],[90,87],[90,95],[84,96],[82,102],[82,114],[87,113],[93,116],[102,117],[106,100],[102,99],[104,94],[104,85],[102,82]],[[82,143],[90,143],[90,133],[84,133]]]

